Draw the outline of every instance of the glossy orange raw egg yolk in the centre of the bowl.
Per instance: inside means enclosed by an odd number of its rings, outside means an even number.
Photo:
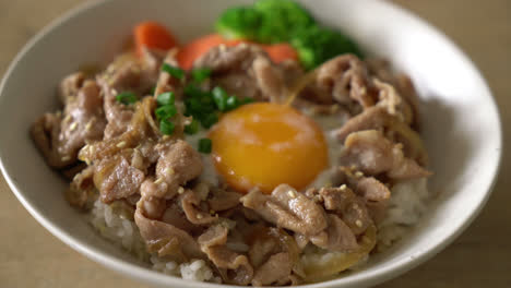
[[[243,193],[271,193],[282,183],[302,189],[328,166],[321,128],[284,105],[245,105],[224,115],[210,139],[217,172]]]

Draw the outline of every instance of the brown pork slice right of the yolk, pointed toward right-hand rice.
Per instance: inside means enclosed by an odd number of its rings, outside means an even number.
[[[384,173],[390,179],[406,180],[428,177],[430,171],[420,167],[403,153],[403,145],[394,144],[376,130],[349,134],[344,142],[340,163],[353,166],[364,173],[377,176]]]

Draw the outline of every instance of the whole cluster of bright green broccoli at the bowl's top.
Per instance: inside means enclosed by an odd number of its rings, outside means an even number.
[[[361,57],[353,40],[319,26],[307,10],[292,0],[258,0],[253,7],[227,9],[216,21],[215,28],[227,39],[289,43],[308,70],[342,53]]]

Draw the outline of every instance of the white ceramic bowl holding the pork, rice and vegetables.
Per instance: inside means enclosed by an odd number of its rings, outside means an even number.
[[[102,239],[62,197],[67,183],[44,163],[28,128],[56,108],[56,86],[83,63],[106,62],[121,50],[133,24],[156,20],[179,39],[212,31],[235,0],[109,0],[86,3],[46,27],[15,58],[0,87],[1,169],[25,208],[51,233],[92,260],[166,287],[213,287],[141,266]],[[452,242],[490,194],[501,155],[496,104],[484,79],[445,36],[383,1],[304,1],[324,24],[342,28],[366,50],[409,73],[423,99],[424,137],[430,153],[430,189],[439,192],[411,235],[371,257],[364,269],[309,287],[365,287],[402,274]]]

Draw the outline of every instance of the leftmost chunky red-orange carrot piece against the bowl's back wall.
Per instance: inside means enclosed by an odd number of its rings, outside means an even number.
[[[157,48],[168,50],[177,46],[177,40],[170,32],[157,22],[139,23],[134,29],[136,55],[142,55],[142,48]]]

